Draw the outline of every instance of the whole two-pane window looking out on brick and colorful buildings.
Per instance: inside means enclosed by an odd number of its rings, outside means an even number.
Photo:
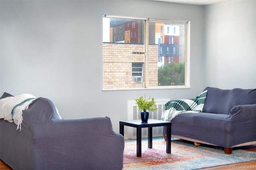
[[[106,15],[103,23],[103,90],[190,86],[190,22]],[[122,34],[127,34],[124,40]]]

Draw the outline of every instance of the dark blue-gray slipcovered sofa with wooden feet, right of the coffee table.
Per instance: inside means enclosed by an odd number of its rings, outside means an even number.
[[[221,146],[226,154],[231,154],[233,147],[256,144],[256,89],[205,90],[202,112],[174,117],[172,136],[195,142],[196,146]]]

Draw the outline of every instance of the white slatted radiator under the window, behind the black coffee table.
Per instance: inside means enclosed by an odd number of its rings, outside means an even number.
[[[157,119],[161,120],[162,112],[165,109],[165,104],[170,101],[170,99],[155,99],[156,106],[158,111],[149,112],[148,119]],[[128,101],[128,120],[137,120],[141,119],[140,111],[136,105],[136,101]],[[142,128],[141,130],[142,138],[148,137],[148,128]],[[153,136],[162,136],[163,128],[162,127],[153,127]],[[124,126],[124,138],[136,138],[136,128]]]

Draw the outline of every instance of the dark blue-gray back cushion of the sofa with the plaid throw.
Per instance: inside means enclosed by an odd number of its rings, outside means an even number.
[[[237,105],[256,104],[256,89],[232,89],[223,90],[214,87],[206,87],[206,101],[202,112],[229,114]]]

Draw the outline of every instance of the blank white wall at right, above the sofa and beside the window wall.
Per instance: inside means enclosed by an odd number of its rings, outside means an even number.
[[[204,7],[204,85],[256,88],[256,1]]]

